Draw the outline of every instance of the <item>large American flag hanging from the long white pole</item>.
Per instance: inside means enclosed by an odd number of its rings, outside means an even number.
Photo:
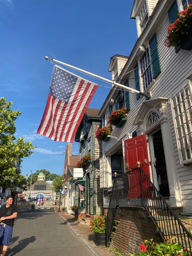
[[[54,65],[47,105],[37,133],[54,141],[73,142],[97,87]]]

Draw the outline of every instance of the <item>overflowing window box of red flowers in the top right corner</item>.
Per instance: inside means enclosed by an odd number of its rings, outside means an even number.
[[[176,46],[180,47],[181,42],[186,40],[186,37],[191,34],[192,31],[192,4],[188,8],[179,13],[179,18],[169,25],[168,35],[164,41],[164,45],[167,47]]]

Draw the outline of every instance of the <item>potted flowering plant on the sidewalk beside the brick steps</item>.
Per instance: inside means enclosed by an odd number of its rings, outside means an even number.
[[[94,219],[90,224],[90,231],[95,235],[96,245],[105,246],[106,245],[106,216],[100,216]]]

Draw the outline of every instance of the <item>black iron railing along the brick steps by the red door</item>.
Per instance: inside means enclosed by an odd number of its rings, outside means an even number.
[[[158,189],[141,167],[115,177],[107,213],[107,245],[109,245],[115,214],[120,206],[142,206],[149,213],[162,239],[175,237],[173,242],[181,244],[192,255],[192,236],[166,203]]]

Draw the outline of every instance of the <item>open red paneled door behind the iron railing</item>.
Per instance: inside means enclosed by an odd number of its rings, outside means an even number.
[[[137,168],[138,161],[141,163],[140,166],[143,171],[150,178],[147,139],[145,134],[125,140],[125,162],[127,171]],[[128,179],[128,198],[141,198],[141,187],[143,188],[144,196],[149,196],[150,184],[149,182],[144,181],[144,175],[139,176],[138,169],[128,172]]]

